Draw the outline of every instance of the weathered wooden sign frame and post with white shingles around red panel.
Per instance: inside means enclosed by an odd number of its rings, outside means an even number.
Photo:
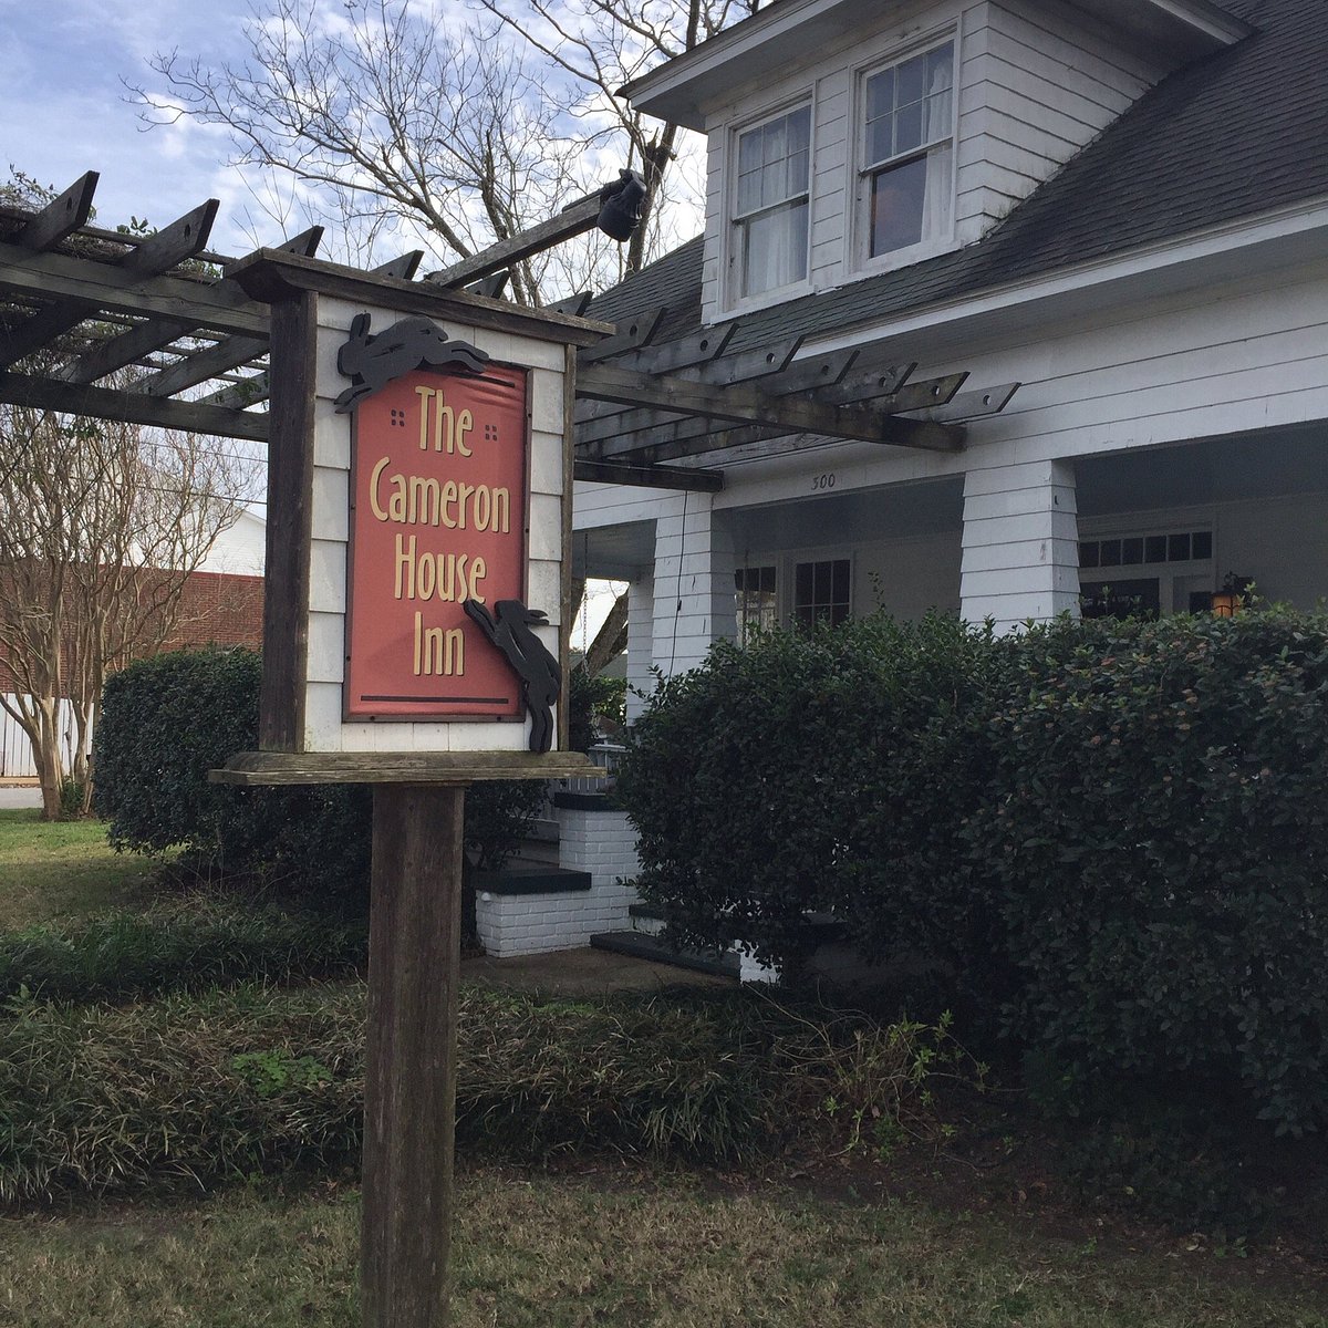
[[[361,1321],[445,1328],[465,788],[595,769],[580,753],[559,750],[567,708],[555,683],[559,672],[567,676],[572,612],[576,349],[612,329],[267,250],[227,275],[272,307],[267,579],[260,749],[236,753],[211,777],[374,785]],[[349,416],[402,374],[445,374],[457,365],[477,374],[494,363],[519,368],[527,385],[523,594],[489,604],[471,586],[461,608],[475,648],[501,651],[522,688],[522,722],[360,714],[344,697],[356,566]],[[417,412],[421,441],[426,400]],[[409,414],[409,402],[397,409]],[[400,644],[398,628],[400,612],[390,610],[389,644]],[[400,659],[389,667],[400,669]]]

